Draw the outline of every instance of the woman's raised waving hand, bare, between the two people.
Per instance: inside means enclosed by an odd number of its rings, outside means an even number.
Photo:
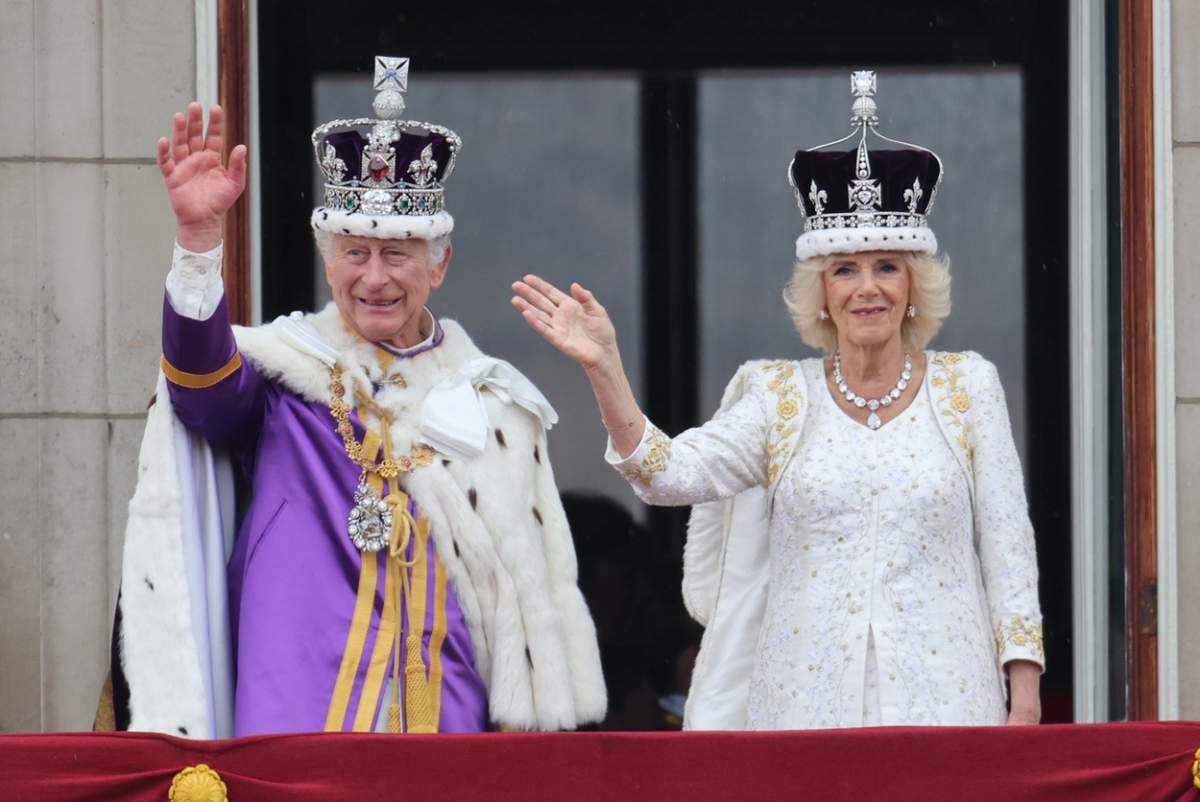
[[[617,331],[600,301],[577,283],[568,295],[534,275],[512,285],[512,306],[529,327],[584,369],[619,365]]]

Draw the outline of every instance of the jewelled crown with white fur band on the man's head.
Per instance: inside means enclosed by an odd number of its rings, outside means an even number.
[[[378,118],[330,120],[312,132],[325,204],[312,227],[380,239],[433,239],[454,229],[445,180],[462,139],[450,128],[402,120],[408,59],[376,56]]]

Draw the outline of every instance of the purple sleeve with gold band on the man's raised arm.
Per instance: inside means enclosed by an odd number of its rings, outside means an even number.
[[[169,298],[162,304],[162,353],[176,371],[210,376],[238,355],[229,325],[229,307],[221,299],[212,316],[194,321],[175,311]],[[254,448],[263,423],[266,388],[253,365],[241,366],[218,382],[202,388],[170,381],[170,402],[185,426],[215,445],[247,451]]]

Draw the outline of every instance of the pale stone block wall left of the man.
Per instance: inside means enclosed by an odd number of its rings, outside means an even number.
[[[193,16],[0,0],[0,731],[90,728],[107,670]]]

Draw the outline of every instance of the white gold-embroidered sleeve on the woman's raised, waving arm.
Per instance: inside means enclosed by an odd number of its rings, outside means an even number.
[[[767,484],[767,423],[761,390],[676,437],[646,420],[642,442],[624,460],[608,441],[608,465],[648,504],[678,507],[736,496]]]

